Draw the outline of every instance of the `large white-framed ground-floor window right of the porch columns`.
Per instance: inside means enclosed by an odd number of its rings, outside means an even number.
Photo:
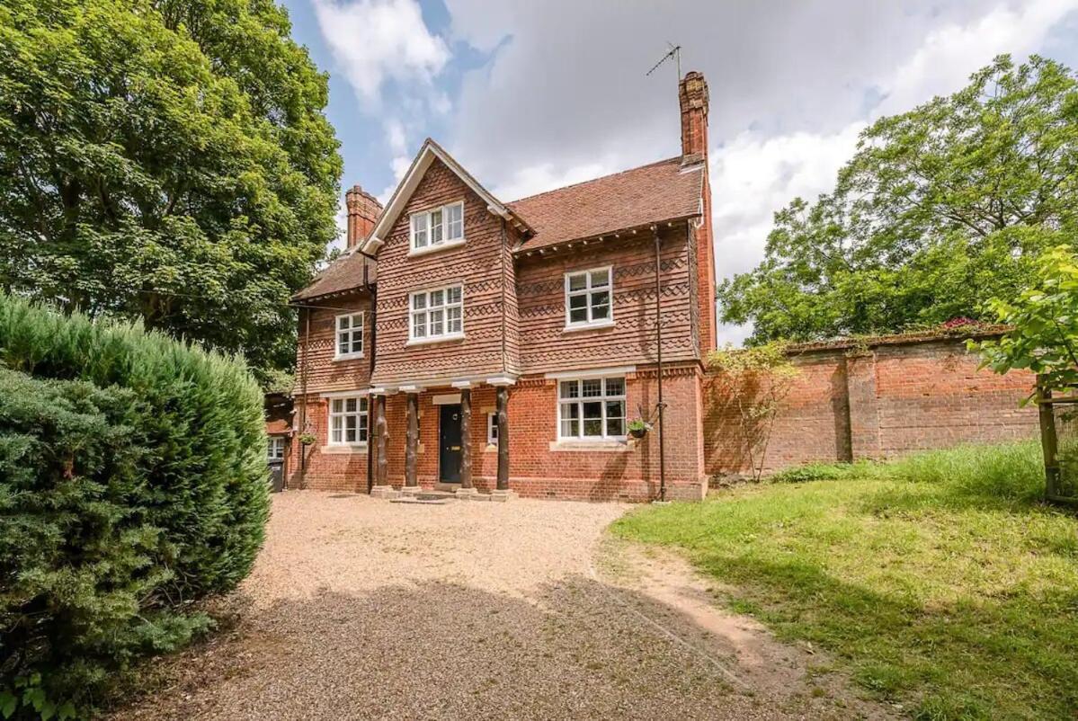
[[[624,376],[558,380],[557,436],[568,440],[624,439]]]

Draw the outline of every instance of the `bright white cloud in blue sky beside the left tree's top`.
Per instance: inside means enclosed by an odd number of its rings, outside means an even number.
[[[378,108],[386,81],[430,87],[450,60],[415,0],[313,0],[318,27],[360,100]]]

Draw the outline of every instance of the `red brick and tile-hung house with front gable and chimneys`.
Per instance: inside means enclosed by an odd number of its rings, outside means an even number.
[[[701,498],[716,314],[700,73],[679,101],[681,155],[612,176],[502,202],[428,139],[385,208],[348,191],[347,251],[293,299],[288,486]],[[660,394],[661,424],[632,438]]]

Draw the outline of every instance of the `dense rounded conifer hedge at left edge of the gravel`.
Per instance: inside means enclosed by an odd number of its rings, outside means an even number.
[[[0,294],[0,716],[82,716],[188,641],[267,515],[241,361]]]

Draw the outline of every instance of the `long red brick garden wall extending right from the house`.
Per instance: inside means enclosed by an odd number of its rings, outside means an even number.
[[[765,472],[1036,435],[1036,411],[1019,406],[1032,374],[978,370],[957,337],[877,341],[793,351],[799,375],[775,418]],[[704,394],[708,474],[748,471],[736,394],[715,373],[705,376]]]

